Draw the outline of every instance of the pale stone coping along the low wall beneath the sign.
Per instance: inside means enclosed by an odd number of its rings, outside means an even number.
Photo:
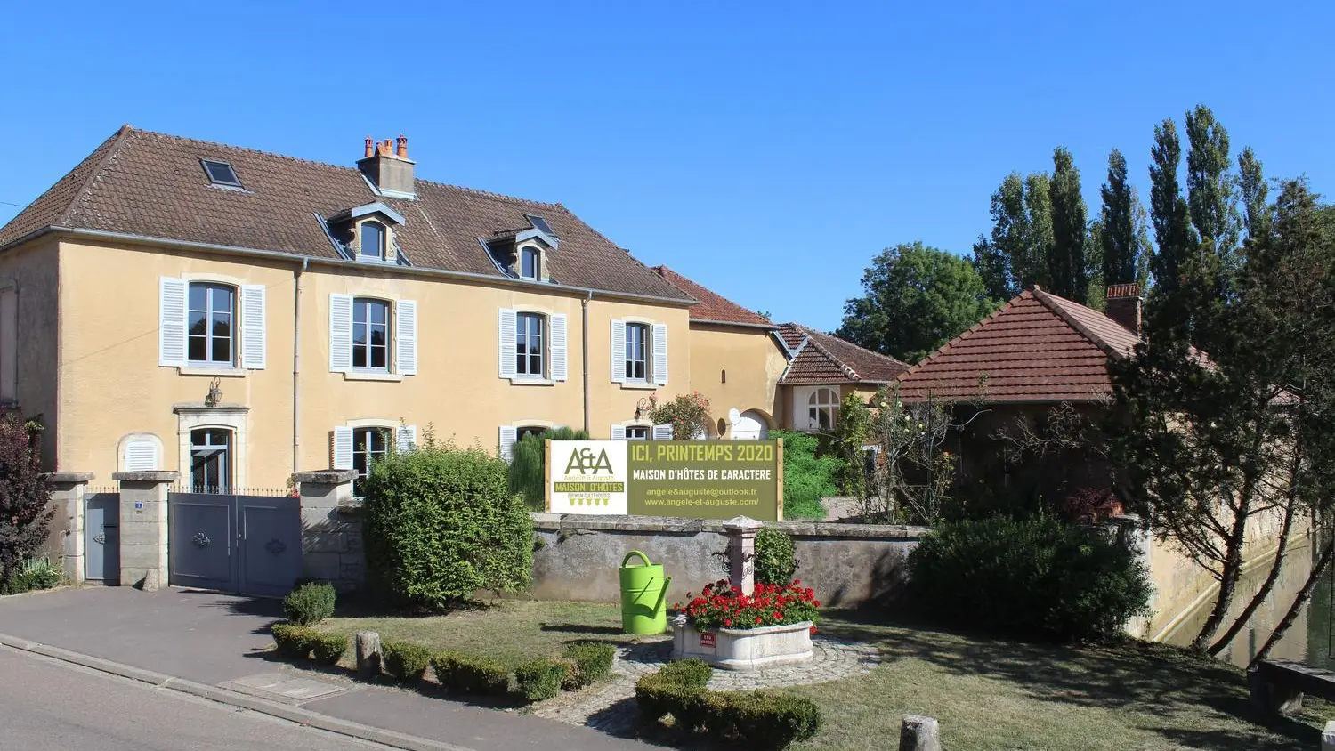
[[[569,531],[591,530],[606,532],[655,532],[693,535],[697,532],[728,534],[726,519],[678,519],[674,516],[611,516],[595,514],[545,514],[534,511],[535,530]],[[846,524],[838,522],[766,522],[794,538],[844,538],[917,540],[932,531],[930,527],[908,524]]]

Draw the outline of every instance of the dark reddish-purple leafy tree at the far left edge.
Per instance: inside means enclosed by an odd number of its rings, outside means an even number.
[[[28,426],[13,412],[0,416],[0,583],[41,550],[53,514]]]

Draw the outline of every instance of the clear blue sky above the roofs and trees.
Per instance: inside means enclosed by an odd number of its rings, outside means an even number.
[[[131,9],[134,5],[134,9]],[[834,328],[881,248],[969,253],[1065,145],[1096,211],[1214,108],[1335,192],[1331,3],[192,3],[11,8],[0,221],[121,123],[562,201],[776,320]]]

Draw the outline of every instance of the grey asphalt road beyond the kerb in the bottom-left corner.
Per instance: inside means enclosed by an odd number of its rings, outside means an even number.
[[[0,751],[386,748],[0,647]]]

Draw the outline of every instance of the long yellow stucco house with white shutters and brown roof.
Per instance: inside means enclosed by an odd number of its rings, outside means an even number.
[[[282,488],[429,426],[502,456],[553,426],[665,438],[646,398],[692,390],[709,438],[782,424],[773,324],[561,204],[418,179],[402,136],[355,156],[127,125],[0,229],[0,404],[47,468]]]

